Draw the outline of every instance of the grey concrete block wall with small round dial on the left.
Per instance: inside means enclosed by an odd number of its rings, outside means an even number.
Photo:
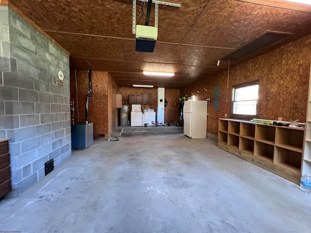
[[[10,196],[41,179],[44,163],[59,166],[71,155],[69,96],[69,56],[0,6],[0,138],[11,138]]]

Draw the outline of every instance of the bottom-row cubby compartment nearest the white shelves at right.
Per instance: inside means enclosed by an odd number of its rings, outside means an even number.
[[[282,166],[300,174],[301,157],[301,152],[287,150],[276,146],[273,162],[278,166]]]

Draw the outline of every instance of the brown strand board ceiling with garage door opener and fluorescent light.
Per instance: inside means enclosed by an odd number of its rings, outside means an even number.
[[[267,31],[290,36],[241,63],[311,33],[311,5],[287,0],[167,0],[154,53],[135,51],[132,0],[10,0],[70,52],[70,68],[109,71],[119,86],[182,88],[226,70],[221,60]],[[137,0],[137,10],[140,6]],[[147,4],[145,4],[145,12]],[[150,26],[154,26],[153,4]],[[137,14],[137,22],[138,22]],[[144,17],[139,24],[144,24]],[[143,70],[175,72],[171,78]]]

